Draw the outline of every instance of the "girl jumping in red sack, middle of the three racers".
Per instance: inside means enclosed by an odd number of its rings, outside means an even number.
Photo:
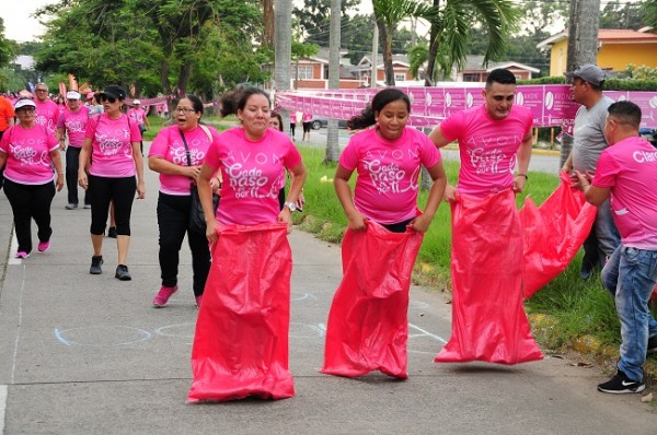
[[[406,127],[410,110],[407,95],[385,89],[348,122],[354,129],[377,127],[349,140],[335,173],[348,228],[342,245],[344,277],[328,314],[324,374],[355,377],[380,371],[408,377],[411,273],[447,183],[436,146]],[[425,213],[417,211],[422,165],[434,180]]]

